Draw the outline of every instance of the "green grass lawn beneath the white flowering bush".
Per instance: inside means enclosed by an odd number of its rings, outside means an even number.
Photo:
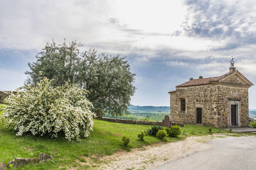
[[[44,152],[53,155],[54,160],[24,166],[19,169],[59,169],[60,167],[62,169],[69,169],[73,166],[79,167],[79,162],[86,162],[83,157],[102,157],[104,155],[111,155],[118,150],[127,150],[127,148],[122,146],[122,136],[130,138],[129,148],[164,142],[152,136],[145,136],[146,143],[139,141],[137,134],[148,128],[150,128],[148,125],[117,124],[94,120],[91,135],[88,138],[82,139],[80,143],[72,143],[63,138],[41,138],[29,134],[26,136],[15,136],[15,132],[6,129],[4,122],[0,121],[0,162],[8,163],[15,157],[38,157],[39,153]],[[191,135],[210,134],[208,131],[209,127],[205,126],[185,125],[181,129],[186,135],[181,134],[177,139],[166,138],[165,142],[177,141]],[[219,132],[219,129],[212,128],[212,132]],[[88,167],[79,167],[79,169],[86,169]]]

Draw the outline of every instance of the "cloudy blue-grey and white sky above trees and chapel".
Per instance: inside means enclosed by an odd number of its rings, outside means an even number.
[[[28,62],[52,39],[126,57],[136,74],[133,105],[170,106],[176,85],[227,73],[232,56],[255,84],[255,9],[249,0],[1,0],[0,90],[22,86]]]

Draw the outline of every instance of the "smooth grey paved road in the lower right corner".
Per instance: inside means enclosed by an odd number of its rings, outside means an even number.
[[[168,162],[157,169],[256,169],[256,137],[214,138],[207,150]]]

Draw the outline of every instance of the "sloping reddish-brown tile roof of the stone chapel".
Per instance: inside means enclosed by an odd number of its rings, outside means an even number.
[[[176,87],[186,87],[186,86],[192,86],[192,85],[206,85],[206,84],[211,83],[211,81],[218,81],[221,78],[228,76],[229,74],[232,74],[232,73],[223,74],[222,76],[217,76],[217,77],[194,79],[194,80],[190,80],[185,83],[182,83],[180,85],[177,85]]]

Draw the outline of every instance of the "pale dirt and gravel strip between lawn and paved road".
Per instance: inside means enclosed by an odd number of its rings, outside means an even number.
[[[107,163],[100,164],[97,169],[153,169],[171,160],[187,157],[211,147],[207,141],[212,138],[212,136],[190,137],[175,143],[145,146],[133,149],[131,152],[118,152],[102,157],[100,160]]]

